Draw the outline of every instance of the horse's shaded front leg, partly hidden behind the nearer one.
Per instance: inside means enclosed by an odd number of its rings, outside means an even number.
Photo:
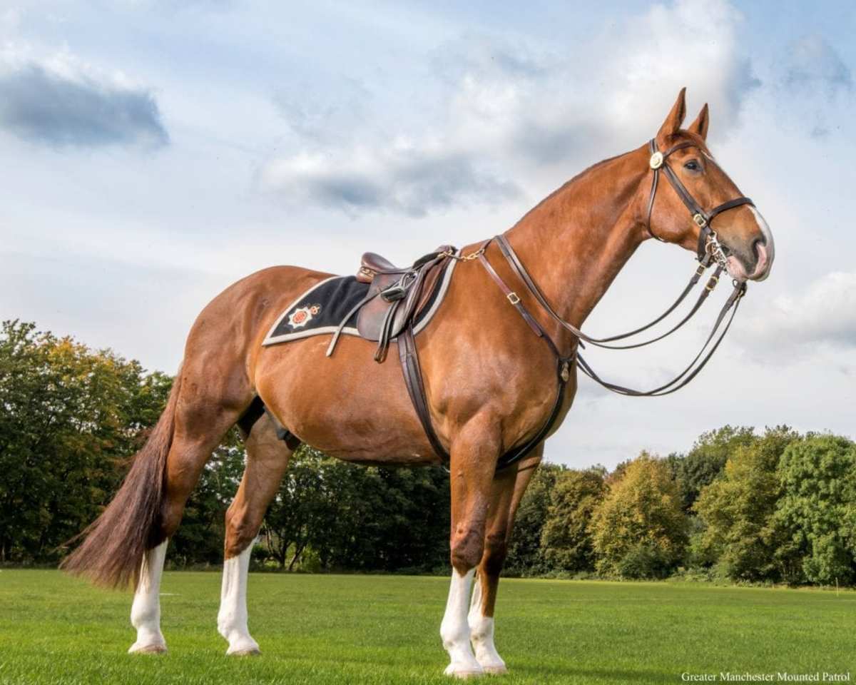
[[[484,555],[479,564],[473,601],[467,621],[470,627],[470,640],[473,641],[476,660],[485,673],[505,673],[506,667],[494,645],[493,612],[496,605],[496,590],[499,587],[499,575],[508,551],[508,541],[514,526],[514,514],[523,497],[532,474],[538,468],[544,446],[541,444],[516,467],[510,467],[493,481],[490,496],[487,533],[484,537]]]

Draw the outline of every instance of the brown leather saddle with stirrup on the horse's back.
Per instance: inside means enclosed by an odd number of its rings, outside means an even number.
[[[413,324],[413,319],[431,298],[449,253],[454,251],[454,247],[441,245],[404,268],[377,253],[363,254],[357,280],[369,283],[368,292],[342,319],[330,340],[327,356],[333,354],[342,329],[356,313],[360,337],[377,341],[374,360],[385,360],[389,342]]]

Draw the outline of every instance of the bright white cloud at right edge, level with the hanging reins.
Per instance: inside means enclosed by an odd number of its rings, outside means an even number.
[[[856,348],[856,272],[826,274],[802,295],[776,299],[741,327],[741,343],[764,360],[791,361],[816,345]]]

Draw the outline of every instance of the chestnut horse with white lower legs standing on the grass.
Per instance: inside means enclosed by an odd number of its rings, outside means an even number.
[[[705,144],[707,105],[683,129],[685,110],[682,90],[651,147],[595,164],[504,234],[544,299],[570,325],[582,325],[643,241],[656,236],[697,248],[701,229],[688,220],[687,200],[674,182],[661,182],[649,206],[655,146],[670,151],[670,172],[698,206],[722,206],[740,195]],[[721,265],[738,282],[764,278],[773,258],[770,229],[751,204],[728,208],[716,219]],[[486,247],[484,258],[502,281],[513,284],[570,358],[578,337],[550,318],[520,283],[497,241]],[[65,569],[103,585],[134,581],[131,622],[137,640],[130,652],[166,649],[158,592],[167,541],[205,462],[235,424],[246,438],[247,468],[226,513],[217,628],[229,641],[229,654],[259,652],[247,630],[247,570],[253,539],[292,454],[277,439],[270,414],[301,443],[348,462],[439,462],[400,367],[374,363],[374,343],[349,337],[329,358],[326,336],[262,346],[288,303],[326,277],[276,266],[235,283],[205,307],[187,337],[181,370],[151,437],[114,500],[66,559]],[[450,658],[446,673],[454,676],[506,670],[494,646],[496,588],[514,513],[544,444],[509,468],[497,470],[496,464],[538,434],[556,400],[556,357],[508,303],[479,261],[461,261],[443,306],[417,338],[431,422],[450,456],[453,572],[440,634]],[[576,371],[572,364],[553,431],[574,400]],[[270,414],[247,420],[256,397]]]

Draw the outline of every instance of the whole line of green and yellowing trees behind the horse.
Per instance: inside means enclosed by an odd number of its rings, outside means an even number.
[[[110,501],[172,378],[6,321],[0,330],[0,563],[55,564]],[[173,567],[222,563],[244,465],[236,431],[170,542]],[[445,573],[449,477],[366,468],[303,446],[253,551],[257,568]],[[520,503],[507,575],[856,584],[856,445],[724,426],[685,454],[611,471],[544,463]]]

